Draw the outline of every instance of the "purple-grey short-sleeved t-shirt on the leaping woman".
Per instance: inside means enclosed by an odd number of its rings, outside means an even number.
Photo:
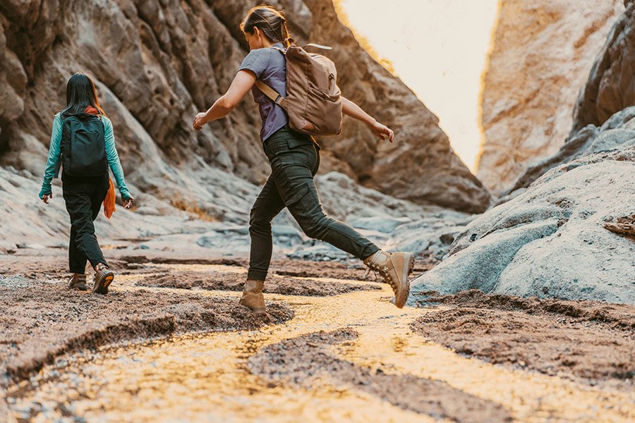
[[[284,49],[281,42],[274,44],[274,47]],[[280,51],[272,48],[251,50],[241,63],[239,70],[243,69],[252,71],[256,78],[286,96],[286,59]],[[251,89],[251,93],[255,102],[258,103],[258,109],[260,109],[260,117],[262,118],[260,139],[264,142],[274,132],[286,125],[289,118],[281,106],[275,104],[255,85]]]

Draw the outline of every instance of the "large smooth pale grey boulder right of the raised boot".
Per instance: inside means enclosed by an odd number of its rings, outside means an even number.
[[[634,129],[603,128],[595,137],[603,148],[551,168],[469,223],[441,264],[413,281],[410,303],[428,290],[473,288],[635,303],[635,239],[607,230],[635,213]]]

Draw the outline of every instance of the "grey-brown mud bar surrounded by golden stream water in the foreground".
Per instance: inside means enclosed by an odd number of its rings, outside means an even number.
[[[270,384],[312,389],[329,379],[384,400],[404,410],[454,422],[509,422],[512,416],[500,404],[483,400],[439,380],[411,374],[387,374],[329,353],[327,346],[351,343],[352,329],[310,333],[262,348],[249,359],[249,369]],[[339,348],[339,353],[343,351]]]

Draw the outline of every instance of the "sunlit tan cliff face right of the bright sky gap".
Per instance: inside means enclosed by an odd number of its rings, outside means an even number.
[[[622,11],[623,0],[501,2],[483,76],[485,141],[477,172],[492,192],[509,188],[528,164],[560,148],[571,130],[571,110],[580,87]],[[623,42],[617,34],[615,42]],[[612,63],[619,66],[617,60]],[[605,71],[616,70],[600,65],[598,83]],[[632,83],[632,67],[630,71]],[[612,94],[605,92],[603,97],[605,103],[612,102],[611,110],[601,113],[604,119],[627,105],[614,101]],[[585,97],[585,104],[594,102],[595,95],[597,88]],[[617,108],[618,103],[622,107]],[[592,117],[586,121],[601,123]]]

